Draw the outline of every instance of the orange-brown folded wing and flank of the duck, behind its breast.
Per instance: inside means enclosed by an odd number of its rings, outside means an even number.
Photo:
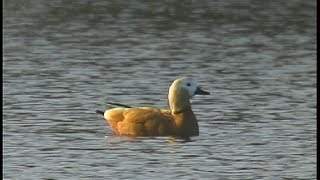
[[[154,108],[114,108],[104,118],[118,133],[134,136],[164,136],[174,134],[175,124],[170,111]]]

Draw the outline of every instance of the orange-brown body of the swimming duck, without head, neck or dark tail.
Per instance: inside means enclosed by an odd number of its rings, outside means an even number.
[[[191,110],[171,114],[153,108],[114,108],[105,119],[119,135],[133,136],[196,136],[199,126]]]

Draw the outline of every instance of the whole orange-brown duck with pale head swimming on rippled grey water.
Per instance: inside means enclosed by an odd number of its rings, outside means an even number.
[[[209,95],[189,77],[173,81],[169,88],[170,109],[131,107],[120,103],[107,103],[113,107],[96,112],[103,115],[117,135],[127,136],[180,136],[199,135],[199,125],[191,109],[194,95]]]

